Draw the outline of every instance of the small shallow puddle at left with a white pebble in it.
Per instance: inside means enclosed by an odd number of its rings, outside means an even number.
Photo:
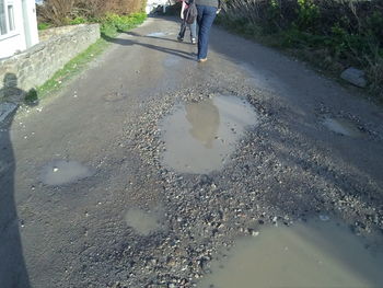
[[[40,178],[46,185],[62,185],[92,176],[86,166],[77,161],[55,160],[43,168]]]

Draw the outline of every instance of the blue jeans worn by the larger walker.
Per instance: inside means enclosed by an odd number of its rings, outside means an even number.
[[[212,22],[217,15],[217,8],[211,5],[197,5],[198,16],[198,59],[208,56],[209,33]]]

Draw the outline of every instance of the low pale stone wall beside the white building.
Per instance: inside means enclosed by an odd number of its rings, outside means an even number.
[[[81,24],[57,31],[46,32],[50,36],[43,37],[45,41],[0,60],[0,102],[20,101],[16,91],[28,91],[44,84],[69,60],[100,38],[98,24]]]

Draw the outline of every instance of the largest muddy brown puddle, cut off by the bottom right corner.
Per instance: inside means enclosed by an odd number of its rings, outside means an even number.
[[[227,255],[197,287],[383,287],[382,251],[332,220],[265,228]]]

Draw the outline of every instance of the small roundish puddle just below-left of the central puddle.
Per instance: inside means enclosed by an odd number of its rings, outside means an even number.
[[[138,208],[129,209],[125,216],[126,223],[134,228],[139,234],[149,235],[161,230],[161,212],[147,212]]]

